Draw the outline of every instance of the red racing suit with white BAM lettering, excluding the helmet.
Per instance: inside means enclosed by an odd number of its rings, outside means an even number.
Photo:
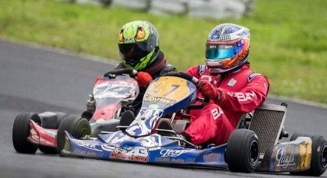
[[[186,73],[219,87],[221,95],[221,99],[211,100],[201,110],[191,110],[191,125],[183,132],[195,145],[226,143],[241,115],[263,103],[269,90],[267,77],[252,72],[249,63],[222,75],[209,73],[205,65],[193,66]],[[199,92],[197,97],[203,98]]]

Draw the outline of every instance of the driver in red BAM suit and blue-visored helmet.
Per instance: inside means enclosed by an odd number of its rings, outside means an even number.
[[[269,81],[250,70],[249,49],[249,29],[221,24],[211,30],[205,43],[205,65],[186,71],[200,80],[197,97],[211,101],[191,111],[191,125],[179,137],[195,145],[224,144],[240,116],[265,101]]]

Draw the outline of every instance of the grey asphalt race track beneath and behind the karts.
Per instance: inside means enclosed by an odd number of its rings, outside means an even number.
[[[113,68],[86,58],[0,40],[0,177],[292,177],[288,173],[244,174],[60,158],[39,151],[34,155],[17,153],[12,145],[12,126],[18,113],[83,112],[94,79]],[[327,109],[293,102],[288,105],[285,129],[290,136],[294,131],[306,131],[327,138]]]

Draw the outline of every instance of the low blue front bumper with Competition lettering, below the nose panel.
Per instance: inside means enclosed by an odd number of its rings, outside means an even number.
[[[102,160],[121,160],[227,168],[224,153],[227,144],[209,149],[180,147],[178,141],[158,134],[134,138],[122,131],[99,134],[97,140],[78,140],[66,132],[61,154]]]

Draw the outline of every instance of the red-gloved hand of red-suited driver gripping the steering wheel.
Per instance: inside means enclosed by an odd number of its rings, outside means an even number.
[[[201,80],[197,88],[203,97],[208,97],[213,100],[220,99],[220,92],[218,91],[218,88],[207,80]]]

